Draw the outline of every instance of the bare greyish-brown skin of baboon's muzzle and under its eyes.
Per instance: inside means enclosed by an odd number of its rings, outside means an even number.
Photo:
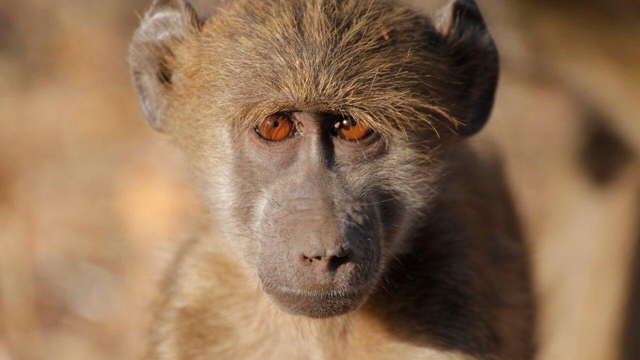
[[[256,186],[237,184],[260,199],[247,219],[255,229],[257,273],[285,311],[339,315],[369,295],[380,277],[384,236],[392,233],[381,218],[383,199],[354,181],[347,164],[383,156],[385,147],[376,134],[359,141],[333,135],[336,115],[289,116],[296,126],[290,138],[273,142],[249,131],[235,144],[234,172],[260,179]]]

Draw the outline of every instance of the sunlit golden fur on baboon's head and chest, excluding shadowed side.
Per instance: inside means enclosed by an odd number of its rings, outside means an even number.
[[[164,124],[158,127],[195,167],[211,211],[202,236],[228,241],[200,241],[186,247],[184,258],[177,256],[159,299],[148,358],[264,359],[274,356],[273,344],[280,341],[293,345],[278,349],[274,358],[311,349],[328,358],[476,359],[438,343],[406,346],[357,313],[329,320],[287,315],[260,292],[248,266],[255,265],[253,259],[242,265],[224,248],[230,244],[251,253],[256,224],[248,220],[267,200],[234,187],[256,181],[232,177],[234,140],[280,111],[348,114],[380,133],[388,145],[383,160],[338,165],[349,170],[348,183],[359,197],[383,202],[388,199],[374,196],[383,189],[410,209],[399,227],[411,233],[415,220],[429,214],[438,179],[445,176],[441,140],[451,140],[447,146],[458,141],[463,119],[445,101],[451,102],[461,78],[443,44],[462,40],[386,0],[239,0],[204,21],[181,0],[156,0],[153,8],[134,37],[131,62],[157,67],[147,58],[162,58],[161,67],[173,69],[158,90],[171,92],[159,109]],[[144,76],[136,71],[134,78]],[[387,260],[403,250],[402,243],[383,248]],[[351,290],[330,295],[340,291]],[[204,332],[207,327],[216,332]],[[232,337],[237,329],[252,336],[238,342]],[[317,341],[321,337],[330,343]]]

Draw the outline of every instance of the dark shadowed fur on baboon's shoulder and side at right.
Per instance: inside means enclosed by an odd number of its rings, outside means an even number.
[[[531,277],[511,194],[499,185],[506,179],[499,164],[460,156],[466,162],[442,177],[410,251],[391,261],[365,309],[419,347],[533,359]]]

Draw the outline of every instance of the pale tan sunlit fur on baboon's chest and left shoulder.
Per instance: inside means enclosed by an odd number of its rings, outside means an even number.
[[[181,285],[163,288],[171,300],[161,304],[145,358],[472,359],[404,343],[366,311],[325,320],[282,313],[246,265],[216,250],[221,243],[204,243],[186,245],[186,258],[170,270]]]

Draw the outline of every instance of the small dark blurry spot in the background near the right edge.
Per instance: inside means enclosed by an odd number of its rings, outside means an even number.
[[[596,113],[589,115],[579,160],[589,179],[604,186],[614,180],[633,157],[632,150],[602,117]]]

